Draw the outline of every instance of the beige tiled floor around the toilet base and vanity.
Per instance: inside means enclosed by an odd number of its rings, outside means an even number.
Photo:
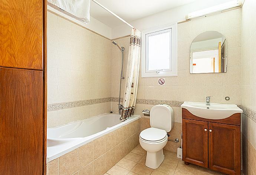
[[[164,151],[164,161],[157,169],[145,166],[146,151],[138,145],[105,175],[222,175],[196,165],[185,165],[174,152]]]

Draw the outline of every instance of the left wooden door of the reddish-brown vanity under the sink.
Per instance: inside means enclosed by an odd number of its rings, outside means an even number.
[[[208,122],[182,119],[185,162],[208,168]]]

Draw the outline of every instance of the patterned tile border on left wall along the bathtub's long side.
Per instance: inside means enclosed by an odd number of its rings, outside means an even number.
[[[95,104],[106,103],[106,102],[111,102],[111,97],[48,104],[47,111],[75,108],[75,107],[86,106],[86,105],[95,105]]]

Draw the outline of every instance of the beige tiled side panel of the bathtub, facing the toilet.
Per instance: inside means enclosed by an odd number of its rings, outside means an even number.
[[[47,175],[103,175],[139,144],[140,119],[47,164]]]

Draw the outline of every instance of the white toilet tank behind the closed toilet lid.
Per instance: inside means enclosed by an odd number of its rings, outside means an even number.
[[[150,110],[150,126],[170,132],[174,125],[173,108],[169,105],[155,105]]]

